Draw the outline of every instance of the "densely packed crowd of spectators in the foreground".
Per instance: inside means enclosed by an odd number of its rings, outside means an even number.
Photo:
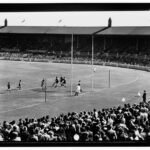
[[[58,117],[4,121],[0,141],[127,142],[150,140],[150,102],[102,110],[68,112]]]

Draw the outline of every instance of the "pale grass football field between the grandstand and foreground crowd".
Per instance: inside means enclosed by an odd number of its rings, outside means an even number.
[[[143,90],[150,98],[150,73],[107,66],[73,65],[73,91],[79,80],[83,93],[71,96],[71,64],[23,61],[0,61],[0,122],[19,118],[50,117],[72,111],[92,111],[126,103],[139,103]],[[109,88],[110,70],[110,88]],[[55,77],[65,76],[67,87],[51,87]],[[93,91],[92,91],[93,77]],[[47,92],[41,89],[41,80],[47,80]],[[21,90],[17,89],[19,80]],[[10,82],[11,91],[7,91]],[[122,102],[125,98],[125,102]]]

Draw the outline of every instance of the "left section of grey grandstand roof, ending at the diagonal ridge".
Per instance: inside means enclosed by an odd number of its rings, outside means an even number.
[[[92,34],[103,27],[7,26],[0,33],[27,34]]]

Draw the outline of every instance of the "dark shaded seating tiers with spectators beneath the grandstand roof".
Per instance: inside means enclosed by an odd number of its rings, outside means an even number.
[[[94,60],[131,65],[150,65],[149,38],[101,37],[94,39]],[[0,57],[37,61],[40,59],[69,60],[71,43],[69,36],[5,35],[0,37]],[[74,59],[91,61],[91,37],[74,36]]]

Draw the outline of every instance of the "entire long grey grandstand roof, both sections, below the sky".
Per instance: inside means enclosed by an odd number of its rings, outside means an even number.
[[[0,33],[17,34],[84,34],[89,35],[104,27],[60,27],[60,26],[7,26]],[[150,27],[111,27],[98,35],[150,35]]]

